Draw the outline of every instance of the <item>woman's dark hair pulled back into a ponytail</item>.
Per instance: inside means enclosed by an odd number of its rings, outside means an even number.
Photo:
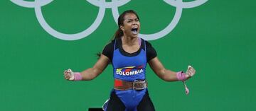
[[[124,35],[124,33],[122,32],[120,26],[121,25],[124,25],[124,16],[127,14],[127,13],[133,13],[137,16],[137,18],[139,19],[139,16],[138,14],[134,11],[134,10],[127,10],[127,11],[124,11],[121,15],[119,15],[117,21],[117,25],[118,25],[118,29],[117,31],[114,33],[114,36],[112,37],[112,39],[110,40],[110,42],[118,37],[122,37]],[[98,59],[100,58],[100,54],[101,52],[98,52],[96,55],[98,57]]]

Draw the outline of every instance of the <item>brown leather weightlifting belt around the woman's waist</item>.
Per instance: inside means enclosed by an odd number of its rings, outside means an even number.
[[[117,78],[114,79],[115,90],[143,90],[144,88],[147,88],[146,80],[123,81]]]

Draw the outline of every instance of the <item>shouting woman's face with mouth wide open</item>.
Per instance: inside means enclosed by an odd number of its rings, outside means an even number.
[[[124,35],[129,37],[138,37],[140,30],[139,18],[134,13],[127,13],[124,16],[123,25],[120,26]]]

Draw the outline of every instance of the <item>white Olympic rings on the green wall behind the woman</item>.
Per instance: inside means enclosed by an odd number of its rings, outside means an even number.
[[[131,0],[112,0],[111,2],[106,2],[105,0],[87,0],[90,4],[99,7],[99,12],[97,14],[97,18],[95,21],[90,25],[89,28],[86,30],[83,30],[80,33],[75,34],[65,34],[60,33],[57,30],[53,29],[46,23],[45,18],[43,18],[43,13],[41,11],[41,6],[46,6],[47,4],[50,4],[53,0],[35,0],[35,1],[23,1],[23,0],[11,0],[14,4],[17,4],[18,6],[23,6],[26,8],[35,8],[36,12],[36,18],[38,19],[38,22],[42,26],[44,30],[46,30],[47,33],[50,35],[53,35],[53,37],[57,37],[60,40],[79,40],[84,37],[87,37],[91,33],[93,33],[102,22],[104,16],[105,16],[105,9],[111,8],[112,9],[112,16],[114,17],[114,21],[117,23],[117,18],[119,16],[118,7],[123,6],[124,4],[127,4]],[[159,31],[158,33],[153,34],[139,34],[139,37],[144,38],[144,40],[156,40],[161,37],[164,37],[168,33],[171,33],[171,30],[173,30],[176,25],[178,24],[179,19],[181,18],[182,9],[183,8],[193,8],[196,6],[201,6],[202,4],[206,3],[208,0],[196,0],[196,1],[189,1],[189,2],[183,2],[182,0],[164,0],[167,4],[176,7],[176,12],[174,14],[174,18],[169,23],[169,25],[166,26],[163,30]]]

